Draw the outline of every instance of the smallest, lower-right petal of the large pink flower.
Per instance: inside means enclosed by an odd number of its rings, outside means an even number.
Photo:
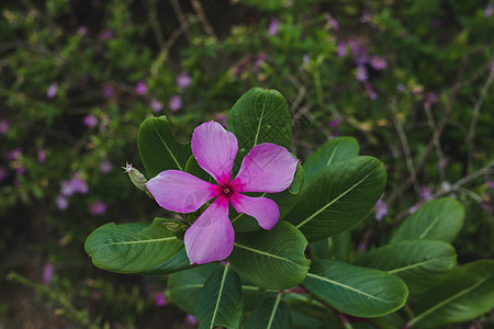
[[[280,218],[280,208],[271,198],[235,193],[229,201],[237,213],[252,216],[263,229],[271,229]]]

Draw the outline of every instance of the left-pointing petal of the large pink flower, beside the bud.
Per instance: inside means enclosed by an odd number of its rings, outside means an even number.
[[[218,186],[179,171],[161,171],[146,183],[147,190],[164,208],[177,213],[191,213],[218,195]]]

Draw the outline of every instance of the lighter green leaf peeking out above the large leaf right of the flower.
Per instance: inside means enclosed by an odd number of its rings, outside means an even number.
[[[336,137],[326,141],[304,163],[305,183],[323,168],[355,158],[359,155],[359,144],[352,137]]]

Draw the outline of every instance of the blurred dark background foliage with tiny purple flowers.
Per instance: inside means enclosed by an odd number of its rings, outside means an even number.
[[[8,328],[193,327],[162,305],[164,277],[104,273],[83,241],[104,223],[150,223],[160,212],[120,168],[143,168],[145,117],[167,115],[187,140],[204,121],[224,123],[256,86],[287,98],[302,160],[353,136],[385,163],[386,192],[352,236],[357,253],[425,201],[451,195],[467,206],[459,263],[493,256],[492,3],[4,0],[0,9]]]

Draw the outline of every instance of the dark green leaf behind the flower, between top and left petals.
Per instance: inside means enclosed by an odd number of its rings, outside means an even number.
[[[177,141],[165,115],[148,117],[141,124],[137,146],[148,178],[164,170],[184,170],[192,154],[190,143]]]

